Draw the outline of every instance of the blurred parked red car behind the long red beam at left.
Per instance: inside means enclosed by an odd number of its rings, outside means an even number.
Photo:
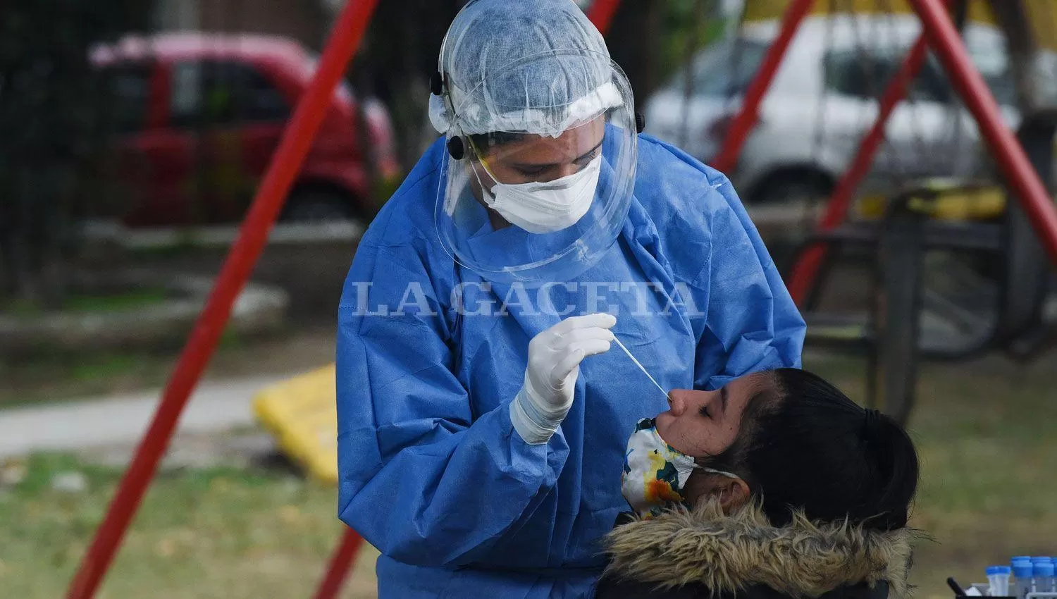
[[[289,39],[199,33],[128,38],[96,48],[91,60],[114,101],[103,176],[119,198],[98,211],[127,226],[241,220],[316,64]],[[342,83],[288,199],[286,220],[374,213],[372,165],[383,179],[398,171],[392,125],[368,100],[361,129],[357,108]]]

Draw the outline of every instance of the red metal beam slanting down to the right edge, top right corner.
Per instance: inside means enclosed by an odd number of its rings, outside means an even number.
[[[1002,174],[1032,220],[1042,245],[1057,265],[1057,207],[1054,206],[1038,173],[1032,168],[1024,149],[1002,120],[995,96],[972,65],[958,30],[947,17],[942,0],[910,0],[932,49],[943,63],[951,83],[980,126]]]

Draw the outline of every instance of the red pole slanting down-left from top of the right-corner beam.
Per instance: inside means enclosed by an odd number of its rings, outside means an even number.
[[[859,142],[858,151],[855,153],[851,166],[848,167],[845,175],[834,188],[833,194],[830,196],[830,202],[826,206],[826,213],[822,214],[818,223],[820,231],[827,231],[840,225],[848,217],[848,209],[851,207],[855,191],[870,172],[874,155],[877,153],[877,149],[880,148],[880,144],[885,141],[885,126],[888,124],[888,118],[891,116],[895,106],[906,96],[910,81],[913,80],[917,72],[921,71],[922,65],[925,64],[927,50],[928,41],[923,33],[917,38],[913,48],[910,49],[910,53],[903,61],[903,64],[900,65],[900,70],[892,76],[888,87],[885,88],[885,92],[880,96],[877,118],[874,120],[870,131]],[[793,267],[793,274],[789,281],[789,289],[790,295],[793,296],[793,301],[797,302],[797,304],[801,304],[808,297],[808,292],[811,291],[815,278],[818,276],[818,269],[826,259],[826,252],[827,247],[824,245],[819,244],[810,247],[800,256]]]

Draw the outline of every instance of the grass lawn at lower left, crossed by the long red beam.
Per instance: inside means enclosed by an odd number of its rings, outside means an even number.
[[[3,597],[61,597],[119,472],[67,455],[37,455],[0,494]],[[53,490],[56,472],[88,478],[84,493]],[[289,474],[231,469],[159,478],[104,581],[99,599],[311,597],[340,527],[334,490]],[[374,596],[369,547],[342,597]]]

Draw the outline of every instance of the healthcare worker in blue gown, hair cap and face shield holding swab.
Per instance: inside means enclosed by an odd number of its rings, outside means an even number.
[[[637,133],[572,0],[475,0],[443,133],[339,307],[339,517],[379,597],[585,597],[627,431],[665,390],[799,364],[803,321],[726,177]],[[612,350],[611,350],[612,348]]]

